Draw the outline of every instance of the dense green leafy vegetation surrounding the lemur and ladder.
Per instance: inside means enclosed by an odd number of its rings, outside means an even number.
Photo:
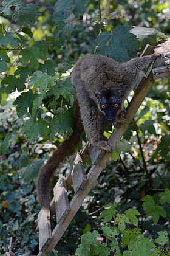
[[[0,13],[0,253],[11,240],[17,256],[36,255],[36,176],[72,133],[73,64],[93,53],[137,57],[167,38],[170,9],[163,0],[3,0]],[[55,255],[170,255],[169,81],[155,81]]]

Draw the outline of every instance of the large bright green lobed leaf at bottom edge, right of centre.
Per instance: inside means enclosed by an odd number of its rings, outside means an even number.
[[[129,251],[131,251],[131,256],[150,256],[152,254],[152,250],[156,246],[154,243],[149,241],[148,238],[140,235],[136,238],[136,241],[131,241],[128,245]]]

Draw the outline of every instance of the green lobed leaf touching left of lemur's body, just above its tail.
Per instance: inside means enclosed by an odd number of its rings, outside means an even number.
[[[73,112],[71,109],[64,112],[64,109],[58,109],[58,115],[50,122],[50,141],[56,133],[66,134],[72,133]]]

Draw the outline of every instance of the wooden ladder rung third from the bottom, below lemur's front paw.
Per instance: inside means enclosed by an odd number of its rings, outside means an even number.
[[[72,181],[75,195],[80,194],[81,190],[83,190],[84,185],[87,182],[87,176],[84,170],[84,165],[80,153],[77,153],[77,156],[75,157],[75,161],[73,163]]]

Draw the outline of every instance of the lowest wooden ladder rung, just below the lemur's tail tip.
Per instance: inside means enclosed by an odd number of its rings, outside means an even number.
[[[50,210],[41,209],[38,215],[39,251],[44,251],[52,240]]]

